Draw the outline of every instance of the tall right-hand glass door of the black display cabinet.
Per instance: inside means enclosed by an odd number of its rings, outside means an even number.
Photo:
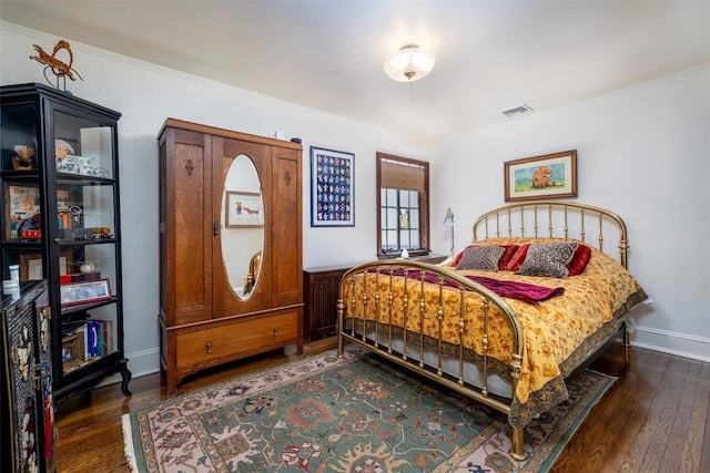
[[[114,130],[87,114],[50,107],[50,271],[59,276],[62,374],[114,352],[120,284]]]

